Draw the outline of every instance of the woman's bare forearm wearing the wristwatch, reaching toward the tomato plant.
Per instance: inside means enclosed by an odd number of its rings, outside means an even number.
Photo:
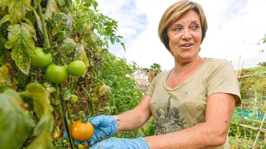
[[[117,127],[115,133],[119,131],[134,130],[144,125],[152,115],[150,110],[150,101],[151,96],[144,95],[141,102],[134,109],[116,115],[116,117],[120,120],[120,126]]]

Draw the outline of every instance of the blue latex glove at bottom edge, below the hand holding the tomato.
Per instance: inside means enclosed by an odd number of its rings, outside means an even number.
[[[150,147],[142,137],[136,139],[111,137],[94,144],[89,149],[150,149]]]

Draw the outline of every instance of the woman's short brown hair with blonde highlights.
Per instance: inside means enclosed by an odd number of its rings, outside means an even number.
[[[159,26],[158,26],[158,36],[161,39],[161,42],[164,44],[165,48],[171,53],[169,47],[169,37],[167,35],[168,27],[174,23],[179,17],[185,14],[187,11],[194,10],[200,16],[200,24],[202,30],[201,41],[205,38],[206,31],[208,29],[207,20],[204,14],[202,7],[192,1],[179,1],[172,4],[169,8],[164,11],[163,16],[161,17]]]

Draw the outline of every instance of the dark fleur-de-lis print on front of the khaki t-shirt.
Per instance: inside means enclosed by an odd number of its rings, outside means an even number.
[[[170,109],[172,96],[164,103],[164,107],[156,108],[155,113],[155,128],[157,135],[162,135],[166,133],[176,132],[186,127],[186,119],[180,116],[180,112],[177,108]],[[187,110],[186,105],[184,105]],[[187,112],[187,111],[184,111]]]

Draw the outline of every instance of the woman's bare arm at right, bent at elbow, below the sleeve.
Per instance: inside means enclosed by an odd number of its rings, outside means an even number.
[[[234,108],[235,95],[212,94],[207,100],[205,123],[145,139],[151,149],[215,148],[226,141]]]

